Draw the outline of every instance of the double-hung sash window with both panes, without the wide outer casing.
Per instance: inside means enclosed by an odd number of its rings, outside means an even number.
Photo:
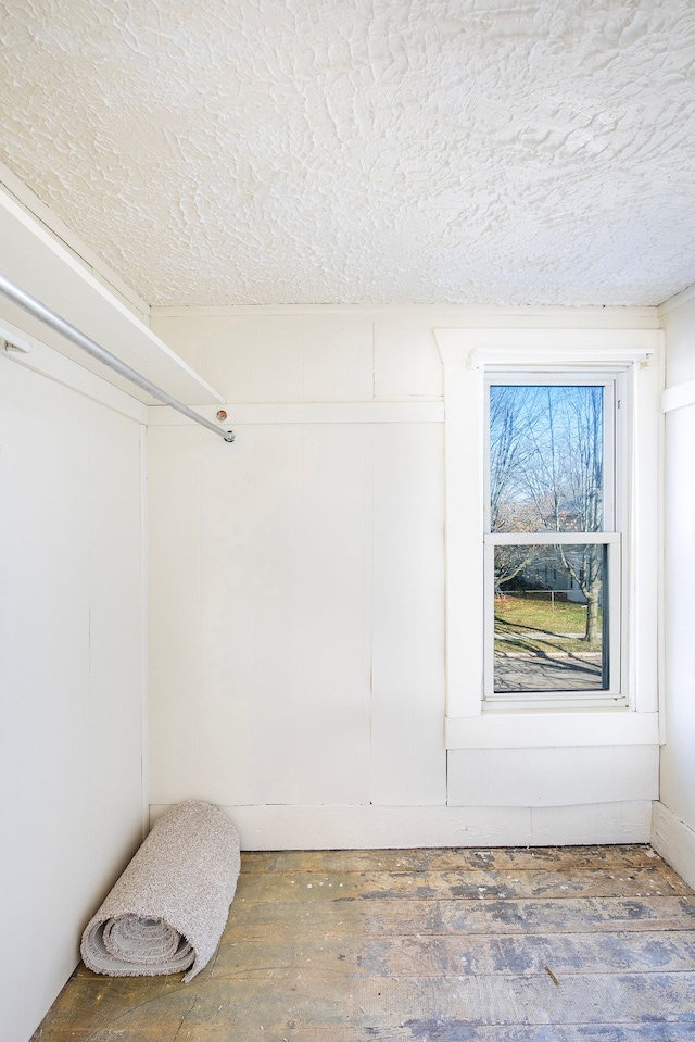
[[[485,699],[622,699],[624,378],[490,374]]]

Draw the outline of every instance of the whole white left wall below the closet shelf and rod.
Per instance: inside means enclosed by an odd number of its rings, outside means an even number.
[[[141,839],[140,430],[0,353],[5,1042],[29,1038]]]

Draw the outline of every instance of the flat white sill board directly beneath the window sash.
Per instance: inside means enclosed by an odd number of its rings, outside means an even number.
[[[606,706],[585,710],[483,712],[447,716],[447,749],[548,749],[590,745],[658,745],[657,713],[634,713]]]

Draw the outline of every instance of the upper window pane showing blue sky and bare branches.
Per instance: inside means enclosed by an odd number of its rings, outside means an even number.
[[[602,531],[603,386],[490,387],[490,530]]]

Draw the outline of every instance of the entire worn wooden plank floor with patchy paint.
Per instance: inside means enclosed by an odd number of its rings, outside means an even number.
[[[80,966],[34,1038],[695,1040],[695,894],[648,846],[245,854],[190,984]]]

